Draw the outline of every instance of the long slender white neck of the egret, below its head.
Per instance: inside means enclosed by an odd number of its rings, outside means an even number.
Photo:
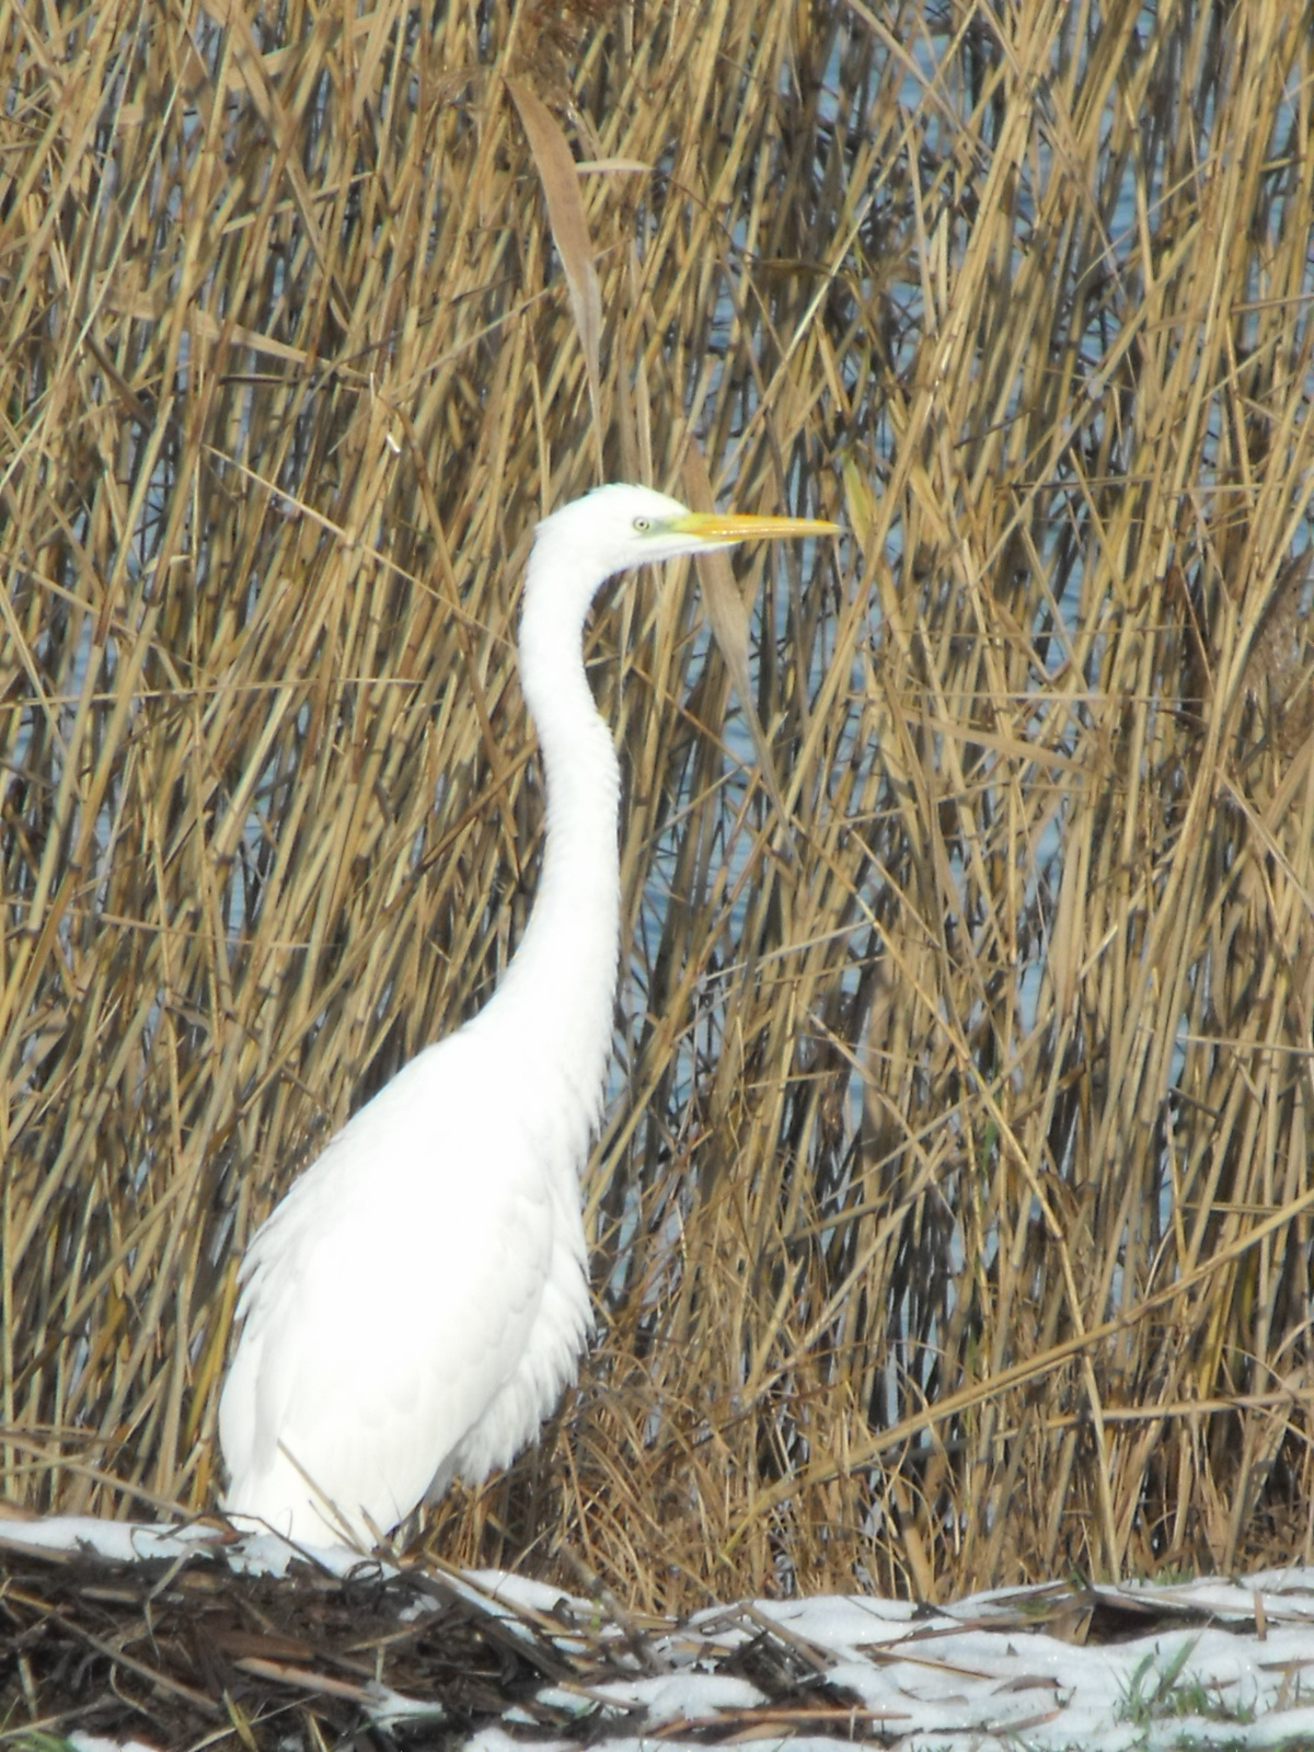
[[[620,767],[583,673],[583,618],[599,580],[559,587],[569,557],[536,548],[520,617],[520,687],[547,776],[547,846],[533,915],[494,999],[531,1063],[550,1063],[601,1113],[620,951]],[[517,1067],[508,1067],[513,1077]]]

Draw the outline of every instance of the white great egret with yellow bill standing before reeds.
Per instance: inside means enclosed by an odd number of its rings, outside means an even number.
[[[620,937],[620,769],[583,671],[613,573],[801,517],[599,487],[543,519],[520,683],[547,769],[533,918],[491,1002],[405,1065],[252,1239],[219,1402],[224,1507],[370,1549],[536,1435],[590,1328],[578,1172],[601,1116]]]

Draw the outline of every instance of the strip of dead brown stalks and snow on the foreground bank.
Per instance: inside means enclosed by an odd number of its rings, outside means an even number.
[[[918,1717],[936,1705],[916,1685],[934,1677],[957,1689],[964,1719],[1000,1741],[1074,1703],[1090,1720],[1072,1684],[1090,1673],[1084,1649],[1114,1661],[1127,1649],[1113,1645],[1144,1650],[1125,1671],[1146,1684],[1132,1682],[1128,1692],[1155,1701],[1156,1689],[1172,1692],[1174,1678],[1163,1675],[1181,1673],[1200,1631],[1218,1647],[1226,1628],[1239,1654],[1263,1638],[1270,1657],[1261,1668],[1284,1670],[1284,1689],[1268,1680],[1268,1696],[1249,1710],[1272,1699],[1282,1712],[1309,1666],[1309,1657],[1281,1661],[1302,1631],[1309,1647],[1298,1579],[1267,1596],[1205,1582],[1211,1598],[1198,1600],[1190,1586],[1065,1579],[939,1612],[923,1607],[911,1619],[897,1617],[902,1601],[844,1601],[865,1622],[850,1619],[846,1636],[832,1624],[827,1636],[822,1624],[776,1622],[762,1601],[676,1624],[615,1603],[599,1612],[597,1601],[524,1582],[520,1598],[506,1598],[503,1575],[449,1568],[398,1573],[364,1559],[335,1575],[293,1561],[284,1575],[252,1573],[249,1545],[224,1542],[217,1529],[198,1535],[165,1538],[165,1552],[152,1552],[133,1529],[128,1558],[86,1542],[25,1549],[0,1529],[0,1624],[14,1656],[0,1670],[0,1719],[9,1724],[0,1743],[63,1752],[61,1736],[79,1729],[110,1743],[392,1752],[466,1745],[485,1731],[484,1743],[510,1747],[809,1736],[906,1748],[923,1743]],[[1030,1666],[1037,1631],[1044,1642]],[[1179,1654],[1170,1656],[1158,1638],[1174,1633],[1190,1640],[1177,1635]],[[1067,1684],[1053,1671],[1053,1638],[1072,1645]],[[887,1698],[872,1698],[871,1678],[857,1677],[867,1663],[894,1678]],[[738,1696],[727,1678],[739,1680]],[[1225,1685],[1211,1696],[1221,1719]],[[1021,1708],[1009,1712],[1016,1699]]]

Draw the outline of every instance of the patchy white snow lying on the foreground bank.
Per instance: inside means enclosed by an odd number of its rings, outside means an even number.
[[[233,1542],[214,1522],[0,1522],[0,1540],[114,1561],[208,1551],[259,1575],[282,1575],[298,1556],[270,1535]],[[310,1556],[333,1575],[359,1561],[342,1547]],[[617,1650],[617,1677],[545,1682],[533,1708],[508,1706],[466,1741],[470,1752],[526,1743],[573,1752],[599,1740],[608,1752],[653,1752],[746,1738],[788,1741],[790,1752],[836,1752],[853,1740],[927,1752],[1314,1748],[1314,1570],[1002,1589],[936,1608],[865,1596],[764,1600],[646,1626],[638,1654],[632,1626],[599,1631],[596,1603],[541,1582],[491,1572],[442,1580],[566,1659],[585,1647],[571,1626],[592,1626],[594,1649],[613,1636]],[[378,1687],[380,1720],[433,1710]],[[564,1727],[548,1733],[545,1715]],[[89,1736],[81,1745],[105,1747]]]

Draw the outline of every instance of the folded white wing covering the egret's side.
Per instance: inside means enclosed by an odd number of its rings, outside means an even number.
[[[389,1528],[515,1372],[555,1218],[508,1076],[489,1091],[461,1035],[422,1053],[254,1239],[221,1407],[233,1508],[277,1522],[300,1468]]]

